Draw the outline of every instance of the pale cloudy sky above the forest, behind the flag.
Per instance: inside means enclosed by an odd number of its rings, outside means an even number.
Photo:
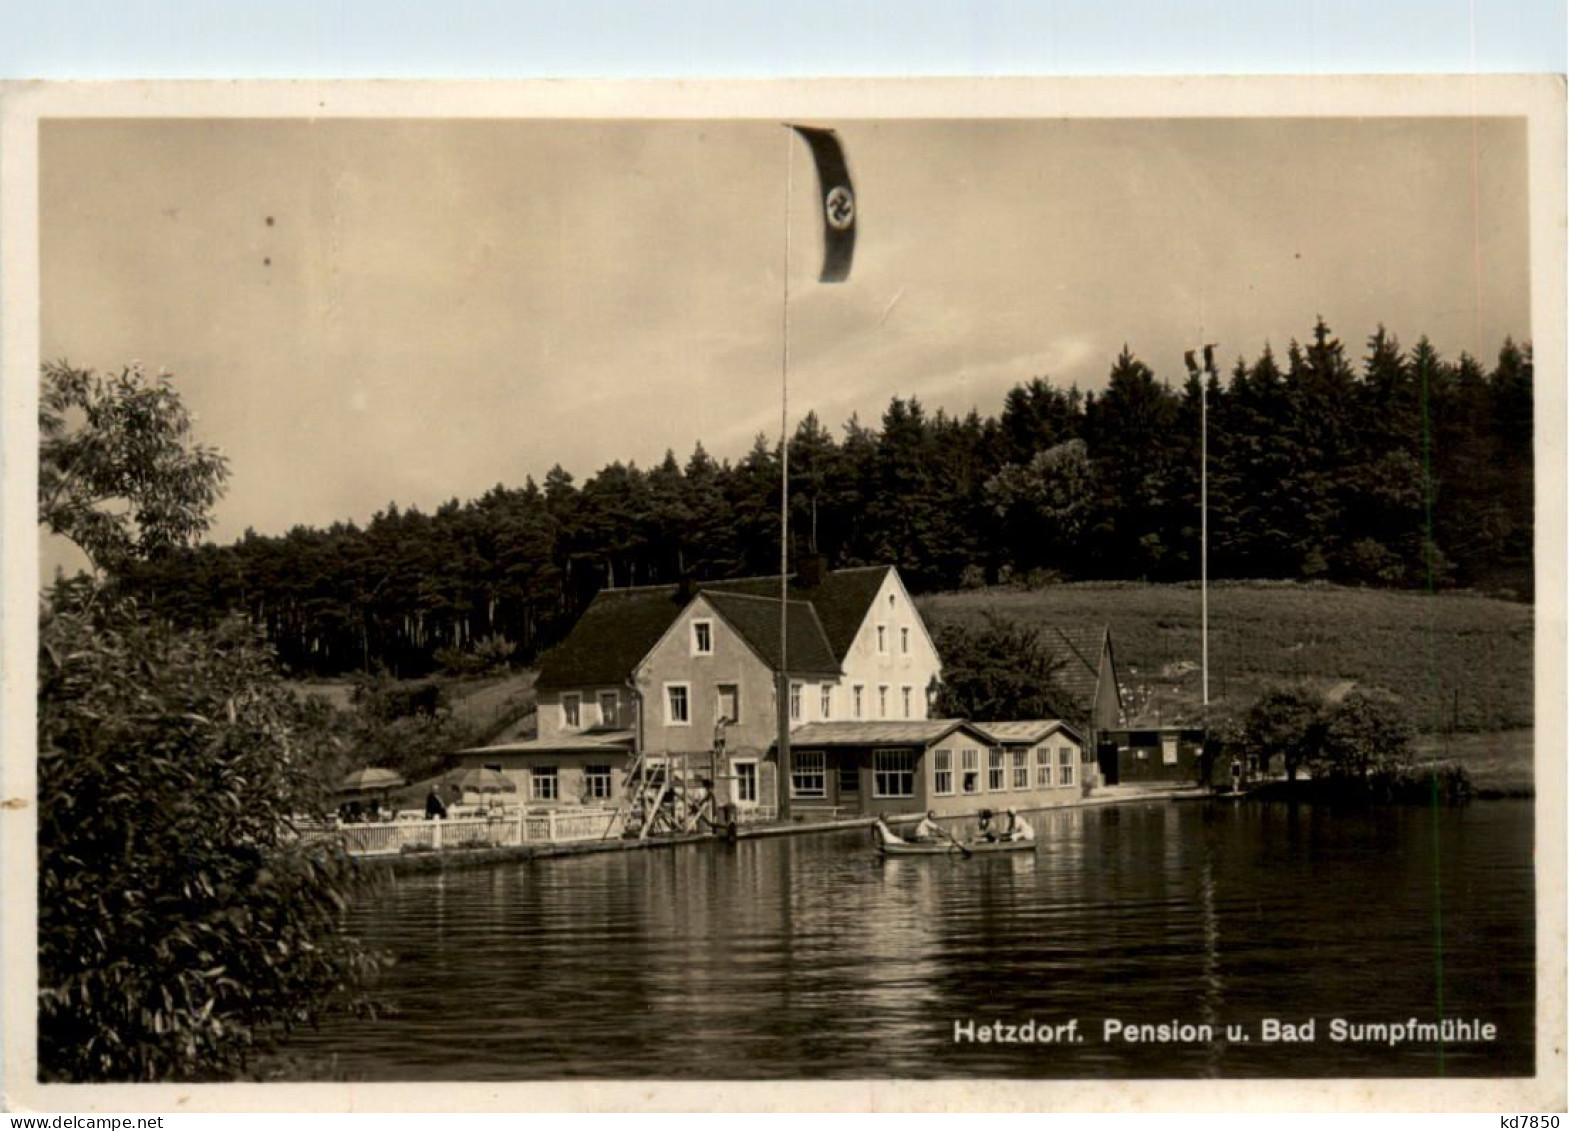
[[[1178,383],[1316,315],[1354,351],[1531,336],[1522,121],[816,124],[857,188],[843,284],[777,122],[46,121],[42,355],[173,373],[229,541],[742,456],[778,435],[786,245],[791,419],[835,431],[1095,389],[1123,345]]]

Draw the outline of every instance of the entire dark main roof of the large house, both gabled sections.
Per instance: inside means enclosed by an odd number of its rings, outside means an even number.
[[[822,580],[811,587],[802,585],[799,576],[791,574],[791,599],[811,604],[817,613],[819,631],[827,638],[833,654],[835,662],[821,668],[822,671],[839,670],[839,662],[849,654],[855,634],[866,620],[872,599],[890,569],[893,566],[885,565],[835,569],[822,574]],[[778,601],[780,577],[774,574],[772,577],[693,582],[693,588],[711,596],[714,593],[745,593]],[[568,637],[544,654],[535,686],[541,689],[595,684],[617,687],[626,682],[632,668],[659,643],[659,637],[684,607],[686,602],[679,599],[675,585],[599,590]],[[778,604],[774,606],[774,638],[777,642]],[[795,627],[791,624],[791,656],[806,656],[805,645],[797,653],[794,634]],[[753,643],[753,646],[756,645]],[[774,653],[764,653],[761,648],[758,651],[764,656],[777,656],[777,648]],[[791,670],[805,668],[791,659]]]

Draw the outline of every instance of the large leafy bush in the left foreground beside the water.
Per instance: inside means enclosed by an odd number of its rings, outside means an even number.
[[[39,627],[39,1073],[221,1079],[292,1026],[364,1007],[340,930],[351,861],[326,816],[322,704],[245,624],[173,632],[129,607]]]

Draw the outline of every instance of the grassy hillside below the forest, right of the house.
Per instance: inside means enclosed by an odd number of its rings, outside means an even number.
[[[1197,717],[1199,587],[1084,582],[919,599],[934,632],[987,610],[1031,624],[1111,627],[1125,706]],[[1246,707],[1271,684],[1385,687],[1423,731],[1531,726],[1533,607],[1475,593],[1221,582],[1210,587],[1210,700]]]

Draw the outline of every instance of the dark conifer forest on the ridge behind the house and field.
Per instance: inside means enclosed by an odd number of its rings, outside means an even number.
[[[835,436],[806,416],[789,445],[791,552],[830,568],[890,562],[912,591],[1199,573],[1200,411],[1208,402],[1210,576],[1530,599],[1531,350],[1489,369],[1360,351],[1320,320],[1283,356],[1163,380],[1123,348],[1105,389],[1015,386],[996,416],[893,397]],[[177,624],[242,612],[297,675],[530,662],[607,585],[778,568],[780,452],[701,444],[642,469],[497,485],[435,513],[389,504],[364,525],[248,530],[166,549],[113,584]]]

